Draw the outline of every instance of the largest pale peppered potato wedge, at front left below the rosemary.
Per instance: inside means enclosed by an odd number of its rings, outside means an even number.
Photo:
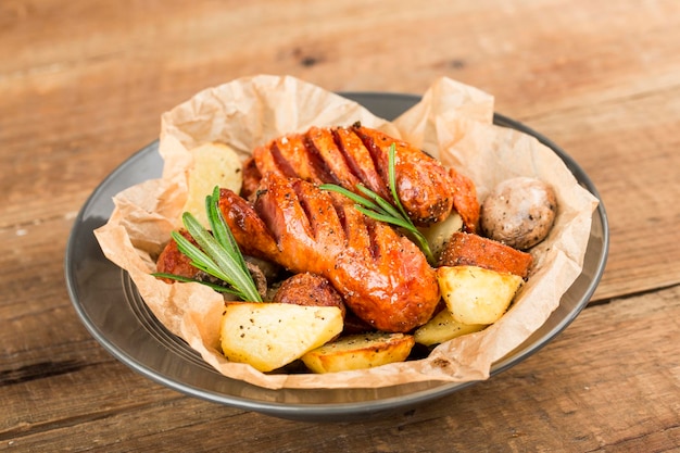
[[[227,302],[221,342],[229,361],[270,372],[300,358],[341,331],[342,312],[337,306]]]

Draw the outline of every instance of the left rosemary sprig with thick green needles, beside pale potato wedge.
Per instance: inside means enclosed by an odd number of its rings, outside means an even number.
[[[212,196],[205,198],[205,210],[213,231],[212,235],[191,213],[185,212],[181,216],[185,228],[199,247],[191,243],[178,231],[173,231],[171,235],[177,242],[177,249],[191,260],[191,265],[225,281],[230,288],[219,287],[207,281],[192,280],[173,274],[156,273],[153,275],[162,278],[173,278],[178,281],[198,281],[213,289],[218,287],[221,288],[218,289],[219,291],[229,292],[244,301],[262,302],[262,297],[257,292],[236,239],[234,239],[229,226],[217,207],[218,200],[219,188],[215,187]]]

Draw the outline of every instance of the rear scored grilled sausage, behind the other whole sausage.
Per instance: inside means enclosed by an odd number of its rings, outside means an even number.
[[[391,200],[388,162],[392,146],[395,190],[411,219],[426,226],[446,218],[456,190],[446,168],[416,147],[358,124],[312,127],[304,134],[279,137],[255,148],[253,159],[262,176],[274,173],[316,185],[331,183],[358,194],[356,186],[361,184]],[[471,181],[463,183],[458,192],[469,190]]]

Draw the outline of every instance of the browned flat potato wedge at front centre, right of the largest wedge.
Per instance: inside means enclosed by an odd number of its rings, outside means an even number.
[[[350,335],[307,352],[302,362],[314,373],[373,368],[405,361],[414,344],[404,334]]]

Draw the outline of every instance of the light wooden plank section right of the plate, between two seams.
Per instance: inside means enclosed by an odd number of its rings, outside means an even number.
[[[678,285],[680,84],[528,124],[561,143],[604,200],[610,253],[594,299]]]

